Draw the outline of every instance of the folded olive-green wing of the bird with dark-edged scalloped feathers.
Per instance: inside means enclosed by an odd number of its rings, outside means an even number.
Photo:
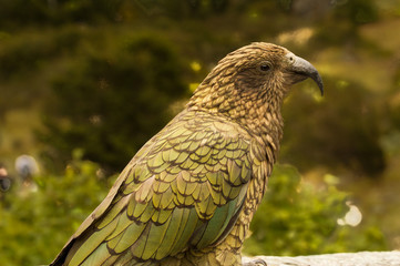
[[[230,231],[252,177],[237,124],[183,112],[148,141],[53,265],[112,265],[175,256]]]

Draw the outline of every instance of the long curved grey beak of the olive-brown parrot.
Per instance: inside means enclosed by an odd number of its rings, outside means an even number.
[[[295,83],[311,78],[321,91],[321,95],[324,95],[322,79],[317,69],[307,60],[296,57],[295,54],[288,54],[287,57],[291,58],[290,71],[297,75],[297,79],[295,78]]]

